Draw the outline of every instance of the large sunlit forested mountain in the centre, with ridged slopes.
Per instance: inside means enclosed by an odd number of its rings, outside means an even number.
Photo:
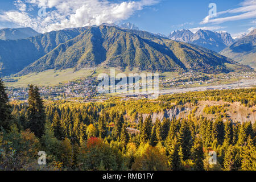
[[[232,64],[232,68],[226,67]],[[142,71],[196,70],[205,73],[250,69],[208,49],[118,27],[88,27],[82,34],[24,68],[18,75],[47,69],[104,67]]]

